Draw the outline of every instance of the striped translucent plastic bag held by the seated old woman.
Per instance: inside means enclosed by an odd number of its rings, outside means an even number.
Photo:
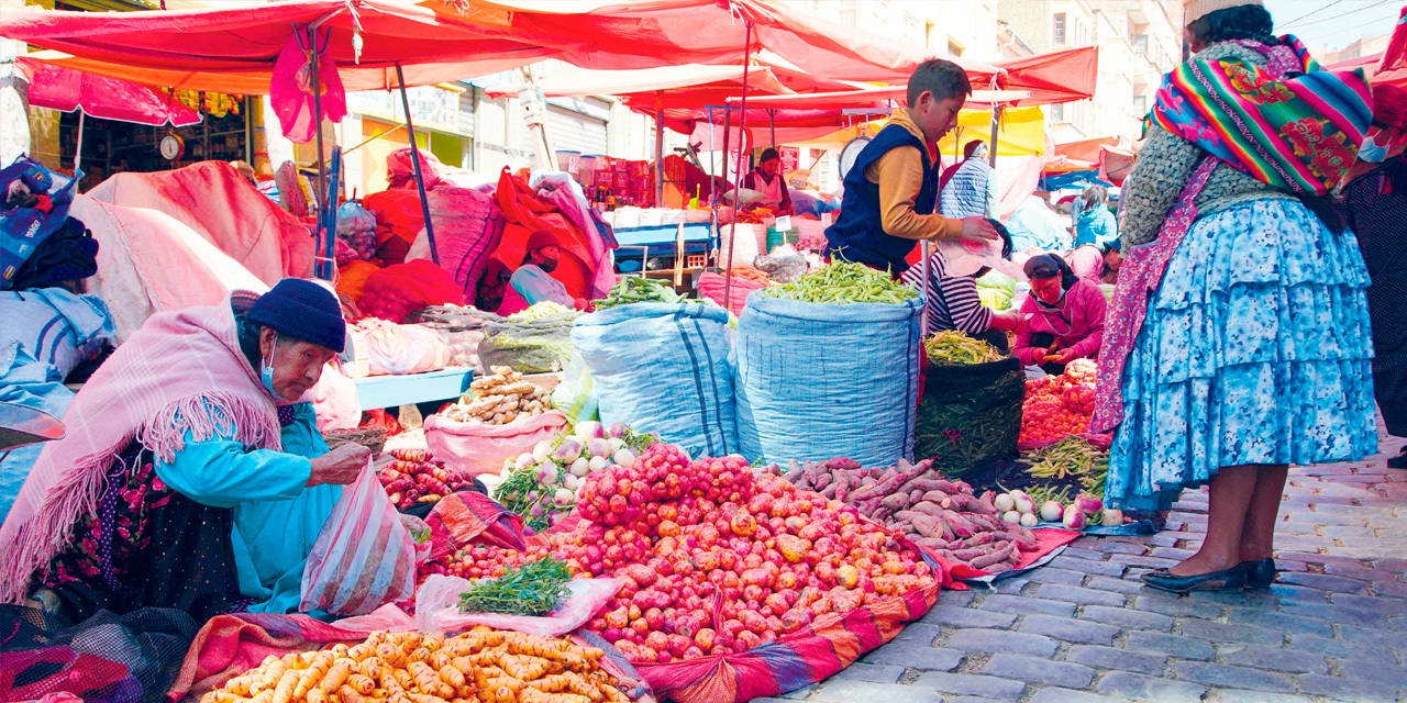
[[[367,458],[312,543],[298,610],[366,614],[405,600],[415,591],[416,551]]]

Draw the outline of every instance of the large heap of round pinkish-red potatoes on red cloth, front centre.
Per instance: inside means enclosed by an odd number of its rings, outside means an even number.
[[[912,544],[736,456],[689,461],[654,444],[630,465],[588,475],[577,515],[571,531],[549,530],[526,557],[473,547],[449,569],[492,575],[550,555],[582,578],[623,579],[587,630],[681,702],[820,681],[937,596],[938,572]],[[765,643],[771,654],[753,652]],[[794,669],[779,676],[775,655],[805,662],[805,681]]]

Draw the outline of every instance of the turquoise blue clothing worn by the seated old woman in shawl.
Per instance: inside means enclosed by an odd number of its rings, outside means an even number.
[[[326,454],[311,404],[294,406],[283,427],[283,451],[246,451],[238,441],[190,441],[170,464],[158,461],[166,485],[201,505],[231,508],[231,541],[239,593],[256,600],[252,613],[294,613],[303,565],[322,524],[342,498],[339,485],[308,488],[311,457]]]

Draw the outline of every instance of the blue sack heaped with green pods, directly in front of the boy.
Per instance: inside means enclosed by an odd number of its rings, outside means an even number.
[[[750,295],[737,322],[737,434],[749,458],[913,456],[923,298],[834,263]],[[846,412],[837,412],[844,408]]]

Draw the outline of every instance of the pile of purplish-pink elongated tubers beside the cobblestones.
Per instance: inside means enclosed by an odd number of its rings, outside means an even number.
[[[1023,551],[1037,550],[1030,530],[998,519],[996,494],[975,496],[971,485],[947,481],[931,467],[930,460],[886,470],[848,458],[794,461],[782,478],[854,506],[953,564],[999,572],[1014,568]]]

